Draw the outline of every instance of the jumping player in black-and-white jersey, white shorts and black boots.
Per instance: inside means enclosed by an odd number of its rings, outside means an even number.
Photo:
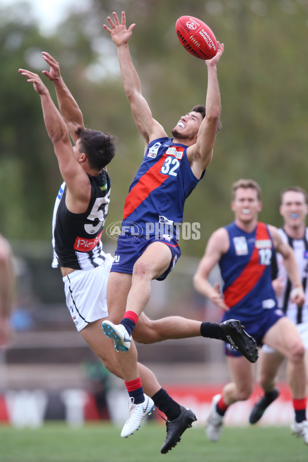
[[[43,52],[43,57],[50,66],[50,71],[43,73],[54,84],[61,114],[40,77],[25,69],[20,69],[20,72],[28,78],[28,82],[33,83],[35,91],[41,96],[46,128],[65,180],[53,214],[53,266],[61,268],[67,307],[76,329],[105,367],[122,378],[112,343],[102,336],[101,331],[102,321],[108,316],[106,286],[113,261],[110,254],[103,252],[100,239],[110,198],[110,179],[105,165],[113,158],[114,142],[109,135],[84,128],[82,112],[62,79],[59,63],[46,52]],[[68,130],[75,142],[74,147],[70,143]],[[232,336],[232,341],[239,345],[247,357],[256,360],[255,349],[252,358],[250,352],[246,352],[250,338],[239,322],[235,325],[224,324],[221,328],[218,324],[180,317],[170,317],[164,323],[161,320],[151,321],[144,316],[137,330],[138,341],[147,343],[198,335],[226,339],[225,333]],[[254,347],[251,341],[249,344]],[[177,444],[195,416],[192,411],[172,400],[151,371],[140,363],[138,367],[144,377],[146,392],[149,396],[157,396],[153,397],[153,402],[168,418],[167,438],[161,450],[165,453]],[[151,406],[146,414],[150,410]],[[177,411],[185,411],[180,419],[174,418]],[[135,430],[138,427],[139,422]]]

